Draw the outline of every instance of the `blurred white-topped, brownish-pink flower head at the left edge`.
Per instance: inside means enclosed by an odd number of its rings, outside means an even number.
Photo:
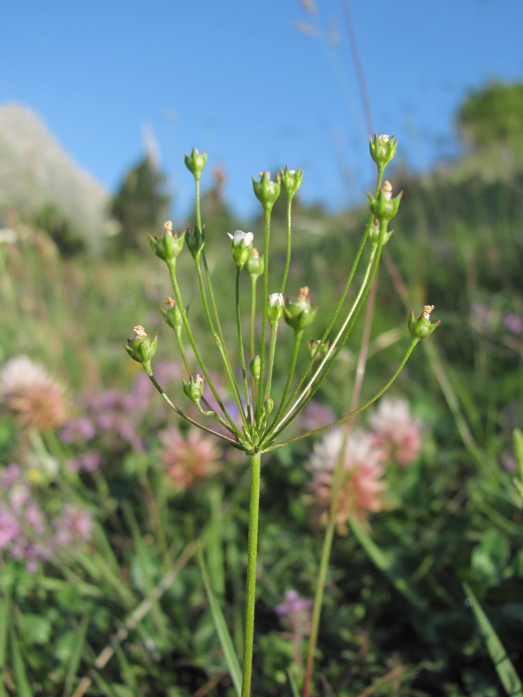
[[[26,355],[12,358],[3,366],[0,401],[29,431],[50,431],[66,420],[63,388]]]

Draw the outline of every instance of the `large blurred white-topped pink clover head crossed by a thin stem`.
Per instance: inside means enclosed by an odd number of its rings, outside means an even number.
[[[315,443],[310,459],[314,503],[324,512],[321,516],[323,520],[331,502],[333,474],[342,441],[342,429],[331,429],[321,441]],[[374,444],[366,431],[351,431],[344,452],[344,480],[336,514],[340,533],[347,532],[349,516],[365,522],[369,513],[384,507],[383,473],[384,452]]]

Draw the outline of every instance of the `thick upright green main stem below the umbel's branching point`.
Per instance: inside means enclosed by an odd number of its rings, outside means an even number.
[[[258,546],[259,480],[261,453],[250,456],[249,538],[247,546],[247,586],[245,598],[245,634],[243,638],[243,676],[241,697],[250,697],[252,643],[255,633],[256,558]]]

